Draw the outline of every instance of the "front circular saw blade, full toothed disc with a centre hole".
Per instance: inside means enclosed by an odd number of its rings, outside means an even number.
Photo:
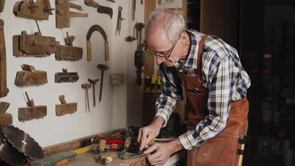
[[[2,132],[7,140],[24,155],[34,159],[45,157],[42,147],[19,128],[5,124],[2,126]]]

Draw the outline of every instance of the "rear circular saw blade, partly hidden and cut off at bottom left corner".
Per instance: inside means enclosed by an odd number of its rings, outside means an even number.
[[[11,143],[4,137],[0,131],[0,165],[23,165],[25,163],[25,156],[19,152]],[[6,164],[7,163],[7,164]]]

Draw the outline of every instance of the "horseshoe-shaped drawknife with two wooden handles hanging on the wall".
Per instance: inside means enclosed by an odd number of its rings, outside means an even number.
[[[88,32],[87,32],[87,36],[86,36],[86,44],[87,44],[87,60],[90,61],[91,60],[91,42],[90,42],[90,37],[92,35],[92,33],[94,31],[99,31],[101,33],[101,35],[104,38],[104,58],[105,60],[109,59],[109,55],[108,55],[108,41],[107,41],[107,35],[105,33],[105,31],[102,29],[101,26],[99,25],[92,25]]]

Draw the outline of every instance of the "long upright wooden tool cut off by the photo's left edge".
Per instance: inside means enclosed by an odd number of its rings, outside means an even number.
[[[4,37],[4,21],[0,19],[0,97],[9,92],[6,80],[6,47]]]

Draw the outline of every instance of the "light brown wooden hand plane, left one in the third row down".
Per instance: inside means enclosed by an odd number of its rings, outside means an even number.
[[[21,66],[22,71],[17,71],[14,84],[18,86],[29,86],[47,83],[46,71],[36,70],[27,64]]]

